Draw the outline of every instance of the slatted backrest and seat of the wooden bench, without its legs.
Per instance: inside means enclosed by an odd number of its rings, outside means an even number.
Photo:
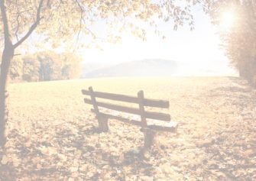
[[[96,116],[105,116],[107,118],[114,118],[129,124],[135,124],[144,128],[153,128],[159,131],[173,131],[173,130],[170,130],[172,129],[170,127],[147,124],[147,118],[158,120],[158,121],[169,122],[170,121],[169,114],[161,113],[161,112],[148,112],[144,110],[144,106],[154,107],[154,108],[169,108],[170,105],[168,101],[157,100],[157,99],[145,99],[143,91],[139,91],[137,97],[130,96],[130,95],[113,94],[113,93],[107,93],[107,92],[95,92],[93,91],[92,87],[89,87],[88,90],[83,89],[82,93],[83,95],[90,96],[90,99],[84,99],[84,102],[86,102],[87,104],[93,105],[92,112],[95,112]],[[97,98],[109,99],[109,100],[119,101],[119,102],[135,103],[135,104],[138,104],[138,108],[131,108],[124,105],[116,105],[116,104],[107,103],[107,102],[99,102],[98,100],[96,100]],[[99,112],[99,107],[111,109],[118,112],[125,112],[133,115],[140,115],[141,122],[122,118],[121,116],[115,116],[115,115]]]

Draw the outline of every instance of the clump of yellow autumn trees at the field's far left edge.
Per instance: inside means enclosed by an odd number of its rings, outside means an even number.
[[[81,58],[76,54],[47,51],[15,56],[11,62],[10,78],[13,82],[76,79],[81,72]]]

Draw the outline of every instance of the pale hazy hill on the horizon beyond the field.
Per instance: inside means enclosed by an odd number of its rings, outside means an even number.
[[[83,78],[124,77],[124,76],[172,76],[177,71],[177,63],[170,60],[144,59],[105,66],[83,73]]]

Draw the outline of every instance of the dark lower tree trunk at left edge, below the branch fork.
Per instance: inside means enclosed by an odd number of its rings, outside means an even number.
[[[0,75],[0,147],[6,142],[5,127],[8,119],[8,79],[11,59],[15,49],[11,44],[5,44],[2,53],[1,75]]]

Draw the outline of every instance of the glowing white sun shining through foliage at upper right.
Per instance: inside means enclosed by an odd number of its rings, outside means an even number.
[[[224,30],[229,30],[235,25],[236,15],[235,11],[225,11],[221,17],[221,27]]]

